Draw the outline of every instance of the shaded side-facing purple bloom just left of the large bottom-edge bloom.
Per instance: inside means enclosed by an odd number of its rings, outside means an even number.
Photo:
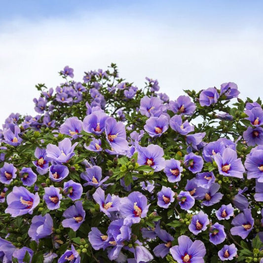
[[[161,257],[163,259],[169,253],[174,238],[164,229],[157,228],[156,234],[164,243],[157,245],[152,252],[156,257]]]

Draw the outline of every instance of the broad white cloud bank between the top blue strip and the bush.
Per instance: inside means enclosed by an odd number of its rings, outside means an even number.
[[[55,87],[69,65],[84,71],[117,63],[122,77],[142,86],[157,78],[175,99],[186,88],[234,81],[241,97],[261,96],[263,38],[253,28],[213,31],[175,28],[150,18],[118,18],[117,12],[36,23],[14,20],[0,29],[0,122],[11,112],[34,113],[35,84]]]

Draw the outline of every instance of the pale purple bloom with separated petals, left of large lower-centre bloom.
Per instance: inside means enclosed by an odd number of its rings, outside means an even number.
[[[120,200],[118,196],[108,194],[105,198],[105,191],[102,188],[98,188],[92,196],[96,203],[100,205],[100,211],[109,218],[112,217],[110,212],[119,211]]]

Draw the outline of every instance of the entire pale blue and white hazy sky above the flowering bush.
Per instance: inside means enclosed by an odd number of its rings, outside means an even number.
[[[107,69],[140,87],[157,78],[176,99],[183,89],[236,82],[263,97],[263,1],[12,0],[0,9],[0,123],[36,115],[37,83],[56,87],[69,65]]]

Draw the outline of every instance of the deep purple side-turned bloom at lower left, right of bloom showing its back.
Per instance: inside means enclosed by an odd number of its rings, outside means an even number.
[[[74,231],[76,231],[79,226],[84,222],[85,219],[85,211],[82,206],[81,201],[76,201],[74,205],[70,206],[64,213],[64,219],[62,221],[63,227],[70,227]]]

